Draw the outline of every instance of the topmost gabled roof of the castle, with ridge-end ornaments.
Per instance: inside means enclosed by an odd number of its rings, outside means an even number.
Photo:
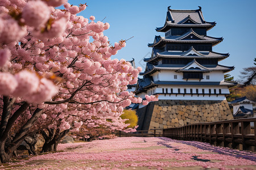
[[[168,7],[166,22],[163,27],[156,28],[156,31],[165,32],[170,27],[207,27],[207,30],[216,25],[215,22],[206,22],[201,11],[198,10],[172,10]]]

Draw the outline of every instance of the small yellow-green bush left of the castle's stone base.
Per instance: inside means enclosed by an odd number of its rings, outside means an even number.
[[[138,116],[134,110],[123,110],[123,114],[120,117],[127,119],[125,124],[130,124],[127,128],[134,128],[138,124]]]

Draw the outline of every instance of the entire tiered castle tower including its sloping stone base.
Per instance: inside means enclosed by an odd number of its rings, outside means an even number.
[[[155,36],[146,69],[138,80],[138,96],[159,95],[159,101],[147,107],[139,105],[141,128],[169,128],[196,122],[232,119],[225,95],[236,83],[224,80],[234,67],[218,64],[229,57],[212,51],[222,37],[210,37],[207,31],[216,25],[206,22],[201,11],[172,10],[166,22],[156,28],[165,36]]]

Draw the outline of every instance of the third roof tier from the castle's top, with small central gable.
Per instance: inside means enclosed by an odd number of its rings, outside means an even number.
[[[221,59],[229,57],[229,53],[217,53],[217,52],[197,52],[191,46],[190,49],[187,50],[187,52],[182,51],[158,51],[155,49],[155,47],[152,48],[152,55],[151,58],[144,58],[145,62],[154,61],[155,59],[160,58],[219,58],[218,61]],[[153,57],[154,56],[154,57]]]

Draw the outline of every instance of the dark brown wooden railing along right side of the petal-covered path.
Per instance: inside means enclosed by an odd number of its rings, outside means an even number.
[[[184,140],[208,142],[216,146],[255,150],[256,118],[242,118],[163,129],[163,136]]]

